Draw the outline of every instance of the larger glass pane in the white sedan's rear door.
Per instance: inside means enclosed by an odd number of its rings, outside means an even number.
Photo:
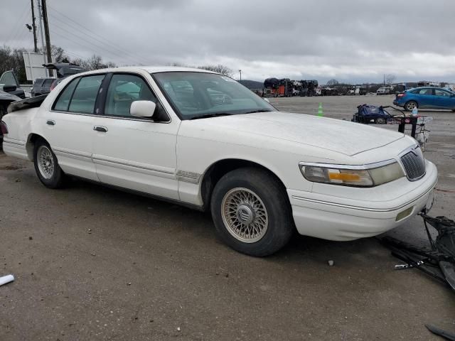
[[[93,114],[98,91],[104,78],[105,75],[82,77],[73,93],[68,111]]]

